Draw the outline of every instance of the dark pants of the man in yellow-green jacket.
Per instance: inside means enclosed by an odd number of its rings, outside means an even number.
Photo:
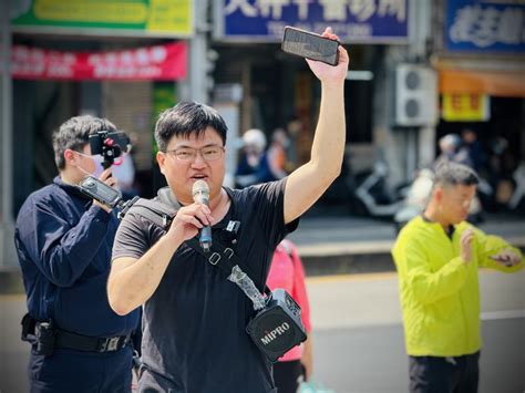
[[[476,393],[480,352],[455,358],[409,356],[410,392]]]

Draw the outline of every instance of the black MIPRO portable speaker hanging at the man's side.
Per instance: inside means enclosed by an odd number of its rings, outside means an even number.
[[[286,352],[307,339],[301,309],[284,289],[276,289],[246,327],[255,344],[276,362]]]

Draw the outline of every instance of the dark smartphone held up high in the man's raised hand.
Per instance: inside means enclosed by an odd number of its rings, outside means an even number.
[[[287,25],[282,35],[281,49],[301,58],[337,65],[340,44],[339,41]]]

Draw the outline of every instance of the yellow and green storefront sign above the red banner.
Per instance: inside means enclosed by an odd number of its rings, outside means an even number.
[[[189,37],[192,0],[25,0],[14,32]]]

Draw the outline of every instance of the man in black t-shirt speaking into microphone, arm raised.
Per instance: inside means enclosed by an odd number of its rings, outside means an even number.
[[[337,39],[329,29],[323,35]],[[235,255],[250,268],[258,290],[265,288],[276,246],[341,169],[348,54],[342,46],[339,53],[337,66],[308,61],[322,87],[311,158],[281,180],[241,190],[223,187],[227,128],[220,115],[198,103],[161,114],[156,158],[182,207],[167,231],[126,215],[107,282],[119,314],[144,304],[142,392],[277,391],[270,361],[246,332],[254,316],[249,299],[186,240],[213,226],[215,241],[224,224],[239,221]],[[209,206],[193,200],[197,180],[209,185]]]

